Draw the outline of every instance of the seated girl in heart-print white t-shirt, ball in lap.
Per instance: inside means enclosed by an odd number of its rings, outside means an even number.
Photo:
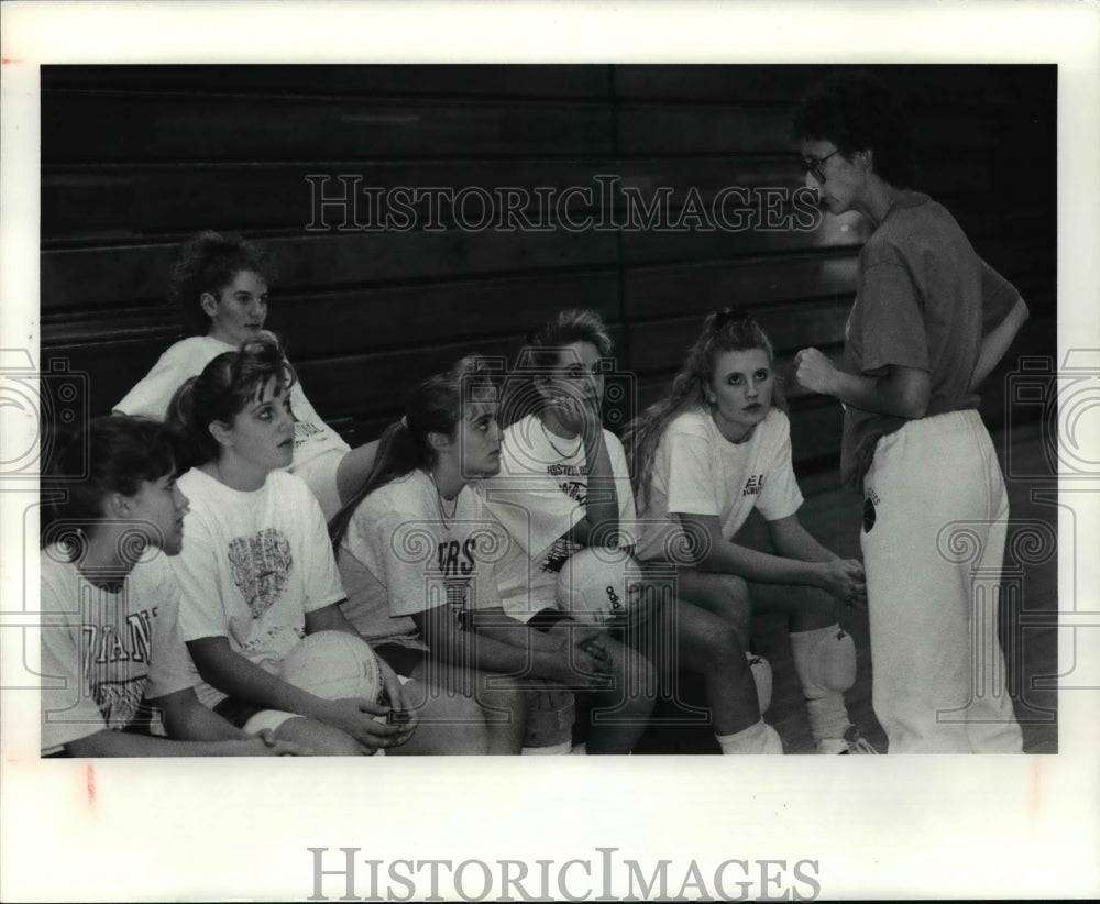
[[[359,638],[340,610],[344,592],[320,506],[282,470],[293,454],[294,379],[278,341],[261,333],[218,355],[169,407],[195,465],[179,478],[191,507],[188,543],[174,564],[180,633],[202,677],[199,699],[246,729],[268,727],[318,753],[484,752],[472,701],[429,699],[418,728],[410,698],[425,695],[406,691],[384,661],[376,668],[388,704],[324,699],[279,677],[306,636]],[[386,724],[392,712],[407,720]]]

